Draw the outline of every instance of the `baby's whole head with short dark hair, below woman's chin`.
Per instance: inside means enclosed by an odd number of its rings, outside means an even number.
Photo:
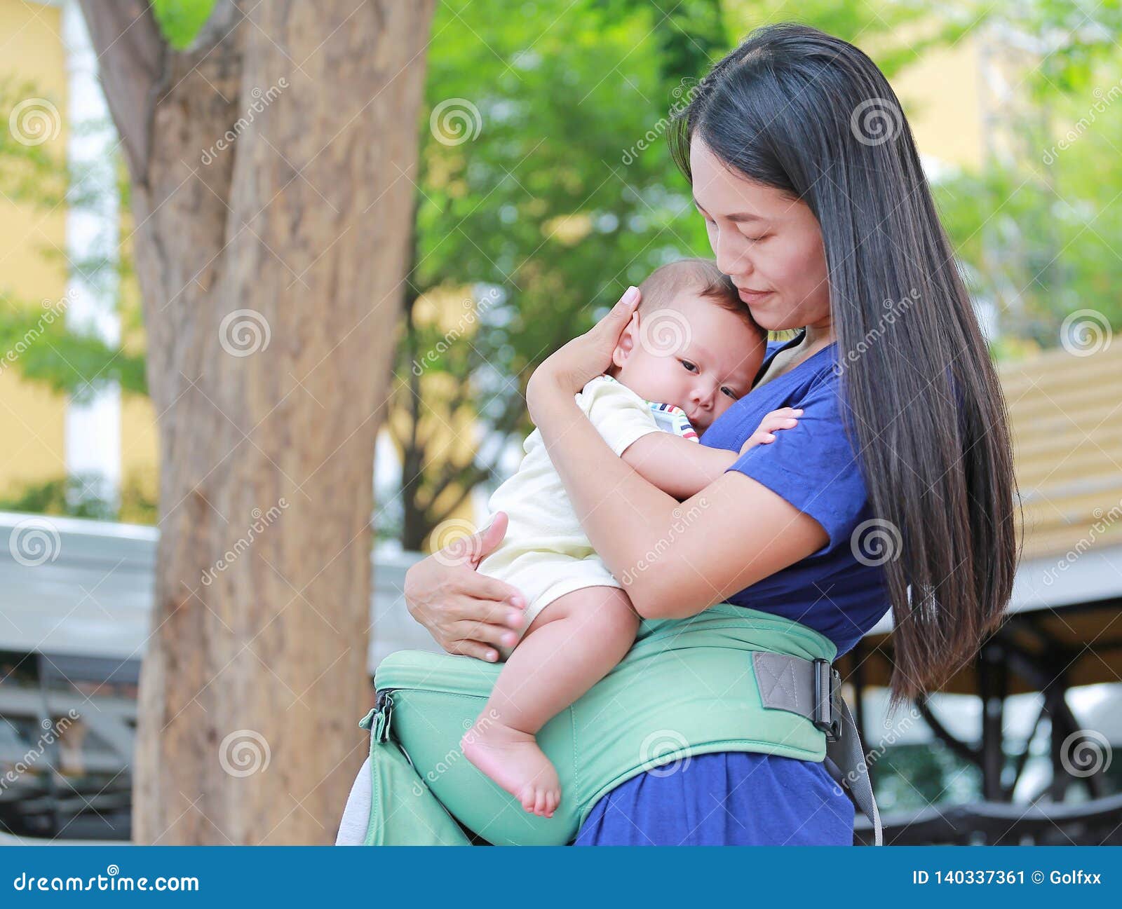
[[[708,259],[655,269],[611,355],[609,373],[649,401],[682,408],[703,430],[748,393],[767,333]]]

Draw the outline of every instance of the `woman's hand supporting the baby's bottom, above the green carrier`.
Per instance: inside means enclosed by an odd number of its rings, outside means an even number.
[[[433,553],[405,573],[405,603],[449,653],[494,662],[495,647],[513,647],[522,627],[525,597],[509,584],[479,574],[476,567],[506,536],[506,514],[490,526]]]

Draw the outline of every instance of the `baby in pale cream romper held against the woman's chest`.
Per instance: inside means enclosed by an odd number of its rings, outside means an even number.
[[[697,434],[752,388],[767,333],[709,260],[663,266],[640,290],[608,374],[586,384],[577,404],[613,452],[682,500],[739,457],[699,445]],[[790,411],[769,414],[742,452],[794,425]],[[460,744],[526,811],[550,817],[561,786],[535,735],[624,657],[640,618],[592,550],[540,432],[524,449],[517,473],[488,502],[509,525],[479,571],[523,592],[525,631],[521,642],[511,632],[517,647],[504,650],[506,665],[487,706]]]

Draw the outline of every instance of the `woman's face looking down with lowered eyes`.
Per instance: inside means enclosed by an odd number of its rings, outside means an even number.
[[[717,267],[764,328],[830,327],[826,252],[810,207],[730,170],[695,135],[693,201]]]

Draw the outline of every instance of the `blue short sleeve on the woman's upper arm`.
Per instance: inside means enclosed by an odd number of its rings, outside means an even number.
[[[845,432],[836,381],[820,381],[801,399],[798,426],[775,432],[775,440],[749,448],[728,469],[767,486],[829,535],[826,551],[853,535],[867,502],[861,463]]]

